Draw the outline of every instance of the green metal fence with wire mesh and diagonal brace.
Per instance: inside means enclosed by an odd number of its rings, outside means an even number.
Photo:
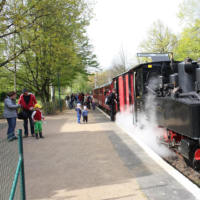
[[[25,200],[22,130],[8,142],[6,124],[0,124],[0,200]]]

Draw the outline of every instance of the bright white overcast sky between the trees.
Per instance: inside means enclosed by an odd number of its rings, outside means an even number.
[[[88,36],[100,67],[107,69],[113,62],[119,62],[121,51],[127,58],[127,65],[136,63],[138,46],[147,37],[153,22],[158,19],[173,33],[179,33],[181,24],[177,13],[181,2],[182,0],[96,0]]]

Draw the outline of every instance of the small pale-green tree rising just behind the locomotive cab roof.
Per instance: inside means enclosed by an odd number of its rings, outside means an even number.
[[[154,22],[148,31],[147,39],[144,40],[139,49],[147,53],[166,53],[174,50],[177,37],[160,20]]]

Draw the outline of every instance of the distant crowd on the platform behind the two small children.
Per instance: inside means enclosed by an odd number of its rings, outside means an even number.
[[[95,101],[91,95],[85,95],[84,93],[71,94],[65,97],[66,107],[69,109],[76,108],[77,104],[85,105],[88,109],[95,110]]]

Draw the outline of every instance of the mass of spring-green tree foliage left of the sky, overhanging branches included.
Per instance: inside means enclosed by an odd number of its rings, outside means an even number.
[[[97,67],[86,35],[91,19],[86,1],[8,0],[0,4],[0,14],[0,66],[12,73],[16,66],[18,87],[42,102],[49,102],[58,75],[65,87],[77,73],[87,76],[89,67]]]

